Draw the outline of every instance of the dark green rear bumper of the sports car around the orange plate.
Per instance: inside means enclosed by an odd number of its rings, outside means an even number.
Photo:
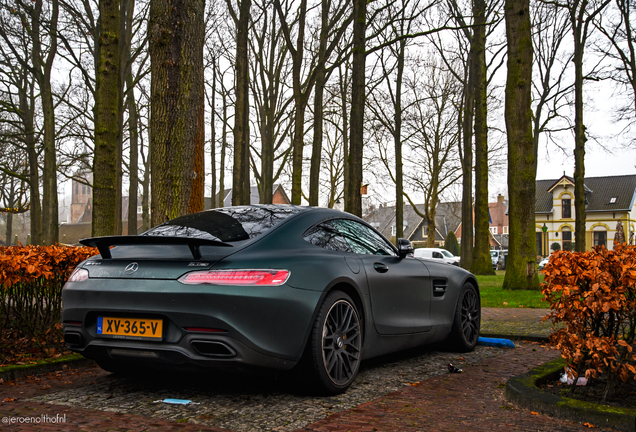
[[[95,360],[186,370],[285,370],[300,360],[321,295],[286,285],[89,279],[65,285],[62,321],[69,348]],[[100,316],[161,319],[162,339],[98,335]]]

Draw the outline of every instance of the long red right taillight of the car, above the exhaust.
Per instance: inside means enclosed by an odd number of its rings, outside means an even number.
[[[278,286],[289,278],[289,270],[212,270],[187,273],[179,282],[187,285]]]

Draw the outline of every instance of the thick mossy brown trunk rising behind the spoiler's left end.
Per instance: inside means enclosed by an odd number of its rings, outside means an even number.
[[[92,235],[116,233],[119,140],[119,0],[100,0],[100,44],[95,88]],[[121,208],[121,203],[119,204]]]

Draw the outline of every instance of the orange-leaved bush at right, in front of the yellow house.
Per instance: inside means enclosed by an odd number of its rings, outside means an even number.
[[[570,371],[593,379],[636,378],[636,246],[556,251],[545,267],[547,317],[563,326],[551,335]]]

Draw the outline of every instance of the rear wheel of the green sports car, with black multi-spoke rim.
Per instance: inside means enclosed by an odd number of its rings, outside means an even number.
[[[362,360],[362,325],[355,303],[342,291],[327,295],[309,337],[307,354],[315,389],[339,394],[353,383]]]

